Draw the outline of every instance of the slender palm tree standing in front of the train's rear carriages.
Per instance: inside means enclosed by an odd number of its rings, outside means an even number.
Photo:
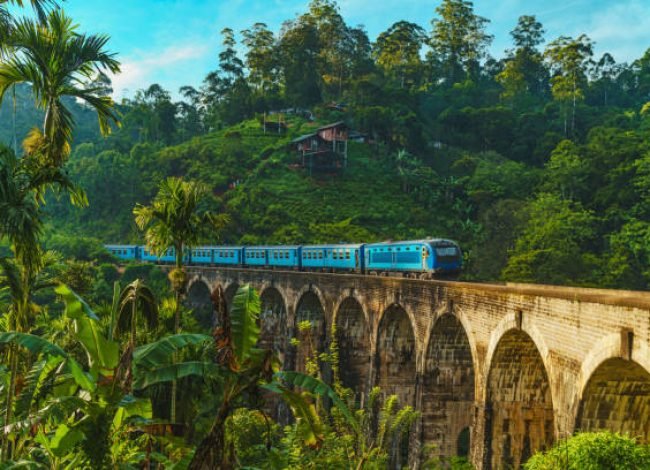
[[[170,248],[175,253],[175,269],[169,273],[176,298],[174,334],[180,329],[180,305],[185,291],[183,268],[185,247],[195,246],[208,236],[214,237],[225,224],[225,214],[215,215],[202,210],[209,194],[204,184],[167,178],[160,183],[158,194],[150,206],[136,205],[135,223],[145,231],[147,248],[162,256]],[[172,384],[171,420],[176,420],[176,382]]]

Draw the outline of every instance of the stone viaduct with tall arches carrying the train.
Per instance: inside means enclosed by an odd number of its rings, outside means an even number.
[[[256,288],[261,341],[287,368],[308,354],[290,346],[298,323],[311,322],[319,350],[334,331],[344,385],[360,397],[378,385],[420,410],[413,441],[443,459],[518,468],[578,430],[650,442],[650,293],[188,269],[195,306],[217,286],[228,299]]]

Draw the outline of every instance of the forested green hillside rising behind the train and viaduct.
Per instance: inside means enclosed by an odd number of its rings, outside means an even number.
[[[650,50],[595,57],[586,35],[547,41],[529,15],[495,58],[471,2],[432,13],[429,30],[397,22],[374,42],[331,0],[278,32],[226,28],[201,87],[123,99],[108,139],[62,97],[79,123],[65,168],[92,209],[50,198],[46,239],[140,242],[133,206],[182,176],[230,216],[225,243],[441,236],[461,242],[467,279],[648,288]],[[9,146],[42,117],[15,90],[0,110]],[[263,116],[288,132],[263,132]],[[339,119],[372,143],[351,143],[344,172],[310,176],[287,144]]]

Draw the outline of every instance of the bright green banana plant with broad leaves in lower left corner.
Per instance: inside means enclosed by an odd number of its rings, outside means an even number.
[[[0,333],[0,345],[26,349],[40,358],[17,400],[21,419],[6,423],[5,432],[13,449],[22,448],[21,438],[22,443],[38,444],[53,467],[80,464],[69,458],[73,452],[83,454],[83,465],[103,468],[110,459],[111,435],[132,416],[151,419],[151,403],[125,394],[119,387],[119,346],[103,335],[88,304],[67,286],[60,285],[56,292],[65,304],[65,315],[73,322],[75,340],[85,352],[87,365],[42,337]],[[34,436],[35,426],[39,431]]]

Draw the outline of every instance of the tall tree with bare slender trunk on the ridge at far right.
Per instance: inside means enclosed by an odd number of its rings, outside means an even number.
[[[576,106],[584,100],[587,83],[587,67],[593,55],[593,42],[585,34],[577,38],[561,36],[548,45],[544,56],[549,62],[553,77],[553,98],[564,106],[564,135],[568,134],[568,107],[571,106],[571,135],[575,134]]]

